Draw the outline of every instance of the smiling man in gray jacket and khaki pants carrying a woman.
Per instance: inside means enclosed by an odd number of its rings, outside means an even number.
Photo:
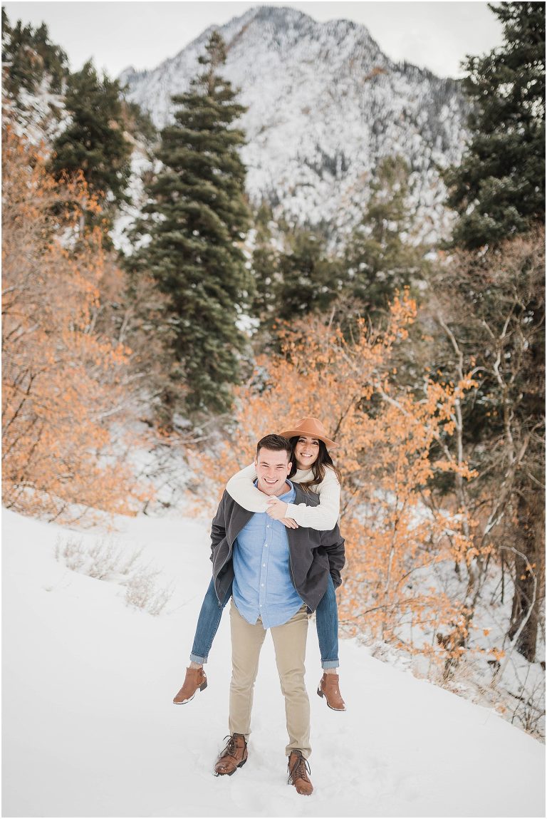
[[[288,480],[290,455],[286,438],[262,438],[256,448],[256,485],[287,503],[319,504],[317,495]],[[246,762],[253,688],[269,628],[285,697],[288,781],[299,794],[311,794],[306,762],[311,753],[310,701],[304,682],[308,615],[323,597],[329,572],[335,587],[341,583],[345,558],[340,531],[337,526],[330,532],[287,528],[266,513],[248,512],[224,491],[211,528],[211,549],[219,600],[233,581],[230,737],[215,773],[232,776]]]

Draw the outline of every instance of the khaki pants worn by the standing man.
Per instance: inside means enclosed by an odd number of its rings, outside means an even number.
[[[266,631],[260,618],[251,626],[237,611],[232,600],[230,607],[232,627],[232,682],[230,683],[230,734],[251,732],[251,708],[253,689],[260,649]],[[308,635],[308,615],[305,605],[283,626],[273,626],[270,631],[275,649],[281,690],[285,697],[285,714],[289,743],[287,756],[293,749],[300,749],[304,757],[310,756],[310,700],[304,683],[305,642]]]

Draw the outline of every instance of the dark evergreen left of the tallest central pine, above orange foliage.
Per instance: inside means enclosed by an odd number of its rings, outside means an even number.
[[[120,84],[97,75],[93,62],[70,75],[66,89],[70,125],[53,144],[51,168],[59,179],[81,171],[89,190],[106,203],[129,201],[131,146],[124,137]]]

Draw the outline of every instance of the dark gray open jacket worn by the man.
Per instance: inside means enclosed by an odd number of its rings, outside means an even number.
[[[319,495],[305,492],[294,484],[295,504],[319,505]],[[216,596],[224,600],[233,581],[233,544],[245,524],[254,513],[248,512],[224,491],[219,509],[211,526],[211,555]],[[346,563],[344,539],[338,524],[330,532],[299,527],[287,528],[289,541],[289,570],[296,591],[310,612],[317,609],[319,600],[327,590],[330,573],[335,589],[341,584],[340,571]]]

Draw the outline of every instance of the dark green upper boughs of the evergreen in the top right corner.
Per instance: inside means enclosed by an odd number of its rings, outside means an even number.
[[[545,218],[545,3],[490,9],[504,24],[504,45],[468,58],[472,137],[461,165],[445,176],[459,212],[454,242],[468,249]]]

